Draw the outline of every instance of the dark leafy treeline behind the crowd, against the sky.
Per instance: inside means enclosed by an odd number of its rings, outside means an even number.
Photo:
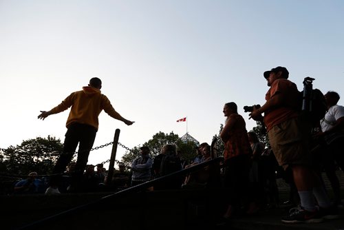
[[[219,133],[222,131],[223,125],[220,125]],[[259,136],[259,140],[268,146],[266,134],[262,132],[263,127],[257,123],[257,127],[253,128]],[[217,138],[217,155],[221,156],[224,146],[219,138],[219,134],[213,136],[211,141]],[[180,156],[184,161],[190,161],[195,158],[197,143],[192,141],[183,141],[178,134],[173,132],[165,134],[158,132],[142,145],[137,145],[125,152],[120,162],[130,167],[131,162],[138,157],[140,147],[148,146],[151,149],[151,157],[154,158],[166,144],[174,143],[178,146]],[[60,139],[47,136],[47,138],[37,137],[34,139],[23,140],[21,145],[10,146],[7,149],[0,149],[0,176],[25,176],[31,171],[36,171],[39,175],[50,174],[56,160],[63,151],[63,143]],[[92,153],[91,153],[92,154]],[[74,159],[76,160],[76,154]],[[118,160],[116,160],[118,162]]]

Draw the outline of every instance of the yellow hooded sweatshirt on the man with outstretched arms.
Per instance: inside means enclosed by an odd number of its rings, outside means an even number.
[[[54,107],[50,112],[58,114],[72,107],[67,118],[66,127],[72,123],[87,124],[98,130],[98,116],[104,111],[112,118],[121,120],[122,116],[112,107],[109,99],[95,87],[85,86],[83,90],[73,92],[60,105]]]

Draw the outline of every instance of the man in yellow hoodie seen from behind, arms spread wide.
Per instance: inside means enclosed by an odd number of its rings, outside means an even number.
[[[65,143],[63,144],[63,154],[58,158],[53,174],[61,174],[65,171],[79,144],[78,159],[76,161],[75,172],[72,174],[72,187],[76,187],[78,179],[83,175],[87,165],[89,151],[92,149],[96,132],[98,131],[98,116],[104,110],[109,116],[127,125],[132,125],[133,121],[128,121],[116,112],[109,99],[101,94],[102,81],[98,78],[89,80],[89,85],[83,90],[72,92],[60,105],[41,111],[38,118],[44,120],[47,116],[63,112],[69,107],[71,110],[67,118],[67,132]],[[60,177],[52,177],[50,187],[45,194],[59,194],[58,184]]]

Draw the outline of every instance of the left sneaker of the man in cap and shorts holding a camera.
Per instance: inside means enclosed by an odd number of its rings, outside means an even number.
[[[283,216],[281,221],[286,224],[297,223],[319,223],[323,222],[323,218],[320,215],[320,211],[307,211],[303,207],[297,207],[290,209],[287,216]]]

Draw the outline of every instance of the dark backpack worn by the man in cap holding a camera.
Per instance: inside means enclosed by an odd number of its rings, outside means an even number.
[[[300,92],[299,98],[301,113],[310,121],[312,127],[317,127],[327,112],[327,104],[321,90],[313,89],[314,80],[309,76],[304,79],[303,91]]]

